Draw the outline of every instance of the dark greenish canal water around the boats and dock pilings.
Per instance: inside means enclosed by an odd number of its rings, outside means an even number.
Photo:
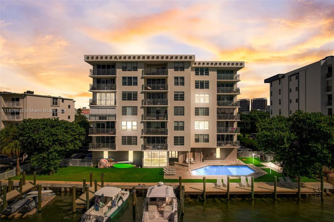
[[[302,199],[278,198],[275,202],[272,198],[256,198],[254,202],[249,199],[232,198],[229,202],[224,198],[211,196],[206,202],[191,199],[185,202],[185,215],[183,222],[220,222],[220,221],[333,221],[334,218],[334,196],[326,197],[321,203],[312,196]],[[138,194],[138,210],[141,216],[143,197]],[[72,196],[61,196],[57,193],[56,198],[42,212],[28,218],[1,219],[1,221],[19,222],[78,222],[83,209],[77,209],[72,213]],[[135,222],[140,222],[136,212]],[[132,222],[132,198],[112,222]],[[180,220],[182,221],[182,220]]]

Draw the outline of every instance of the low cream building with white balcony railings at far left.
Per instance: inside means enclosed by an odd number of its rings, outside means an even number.
[[[0,92],[1,129],[8,124],[18,124],[28,118],[59,118],[74,120],[74,100],[60,96]]]

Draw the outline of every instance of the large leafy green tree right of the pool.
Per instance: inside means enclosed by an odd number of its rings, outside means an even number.
[[[261,122],[259,131],[259,146],[275,152],[289,176],[319,177],[322,166],[334,167],[333,116],[296,111]]]

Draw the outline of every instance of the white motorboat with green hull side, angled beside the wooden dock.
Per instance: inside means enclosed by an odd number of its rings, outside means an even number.
[[[108,222],[124,206],[129,199],[129,191],[117,187],[102,187],[95,192],[95,203],[85,214],[80,222]]]

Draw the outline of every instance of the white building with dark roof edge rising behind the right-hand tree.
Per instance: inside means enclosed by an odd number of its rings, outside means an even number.
[[[327,56],[265,79],[270,83],[270,116],[290,116],[296,110],[332,115],[333,62],[334,56]]]

